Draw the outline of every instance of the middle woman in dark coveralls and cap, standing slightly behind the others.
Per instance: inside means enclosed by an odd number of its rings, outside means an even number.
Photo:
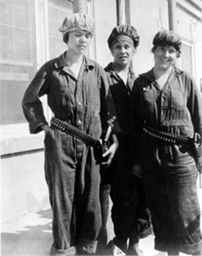
[[[133,174],[131,161],[131,90],[136,75],[130,64],[139,46],[139,35],[131,25],[114,27],[107,40],[113,62],[105,67],[121,131],[119,148],[109,168],[102,172],[102,231],[107,221],[107,198],[113,201],[113,243],[126,255],[143,255],[139,239],[151,233],[142,179]]]

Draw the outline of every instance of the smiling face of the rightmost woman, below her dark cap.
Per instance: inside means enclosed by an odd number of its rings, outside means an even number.
[[[157,46],[154,51],[155,67],[166,71],[175,64],[177,51],[173,46]]]

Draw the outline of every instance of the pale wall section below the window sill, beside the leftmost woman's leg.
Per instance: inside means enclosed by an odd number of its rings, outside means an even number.
[[[1,158],[1,220],[48,206],[42,150]]]

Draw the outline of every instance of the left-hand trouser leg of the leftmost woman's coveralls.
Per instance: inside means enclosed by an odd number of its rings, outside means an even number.
[[[74,234],[71,234],[75,164],[74,147],[67,136],[55,130],[45,135],[45,179],[53,210],[51,255],[73,256],[76,253]]]

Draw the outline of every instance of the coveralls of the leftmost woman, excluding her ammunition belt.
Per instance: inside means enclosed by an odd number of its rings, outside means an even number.
[[[54,116],[100,139],[115,114],[109,92],[105,71],[94,61],[84,57],[78,80],[67,67],[64,54],[48,61],[22,101],[30,133],[40,132],[47,124],[39,99],[47,95]],[[52,249],[74,255],[76,239],[79,253],[92,254],[101,226],[100,165],[92,147],[65,132],[50,128],[44,142],[45,179],[53,210]]]

